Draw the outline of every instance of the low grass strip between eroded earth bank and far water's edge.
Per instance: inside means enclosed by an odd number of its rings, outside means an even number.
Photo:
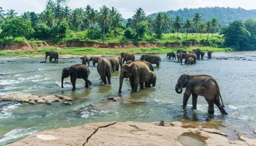
[[[130,49],[102,49],[102,48],[93,48],[93,47],[69,47],[67,49],[57,49],[56,47],[44,47],[37,51],[0,51],[0,56],[25,56],[25,55],[44,55],[45,51],[58,51],[60,55],[70,54],[70,55],[118,55],[121,52],[131,52],[131,53],[158,53],[166,54],[169,52],[176,52],[179,49],[183,50],[193,50],[197,47],[187,47],[187,48],[130,48]],[[199,47],[201,50],[221,52],[221,51],[231,51],[229,48],[216,48],[216,47]]]

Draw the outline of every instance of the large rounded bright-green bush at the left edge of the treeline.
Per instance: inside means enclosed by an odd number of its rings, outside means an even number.
[[[3,30],[0,34],[1,38],[4,37],[30,37],[33,33],[31,22],[19,17],[7,18],[1,26]]]

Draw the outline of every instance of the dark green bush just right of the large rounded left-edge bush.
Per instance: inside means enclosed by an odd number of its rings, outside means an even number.
[[[33,36],[39,39],[48,39],[50,37],[50,28],[44,23],[37,24],[34,27]]]

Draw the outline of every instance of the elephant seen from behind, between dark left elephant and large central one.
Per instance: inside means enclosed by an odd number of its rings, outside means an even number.
[[[104,84],[107,84],[106,78],[108,78],[109,85],[111,84],[111,70],[112,70],[112,65],[108,59],[105,59],[105,58],[99,59],[99,62],[97,64],[97,71],[101,76],[101,79],[104,82]]]

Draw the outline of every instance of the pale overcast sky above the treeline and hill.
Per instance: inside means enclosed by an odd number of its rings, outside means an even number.
[[[41,12],[45,8],[47,0],[0,0],[0,7],[4,10],[15,9],[20,15],[25,11]],[[152,14],[180,8],[198,7],[241,7],[244,9],[256,9],[256,0],[69,0],[71,8],[91,5],[99,9],[102,5],[116,7],[124,18],[130,18],[136,8],[142,7],[145,13]]]

